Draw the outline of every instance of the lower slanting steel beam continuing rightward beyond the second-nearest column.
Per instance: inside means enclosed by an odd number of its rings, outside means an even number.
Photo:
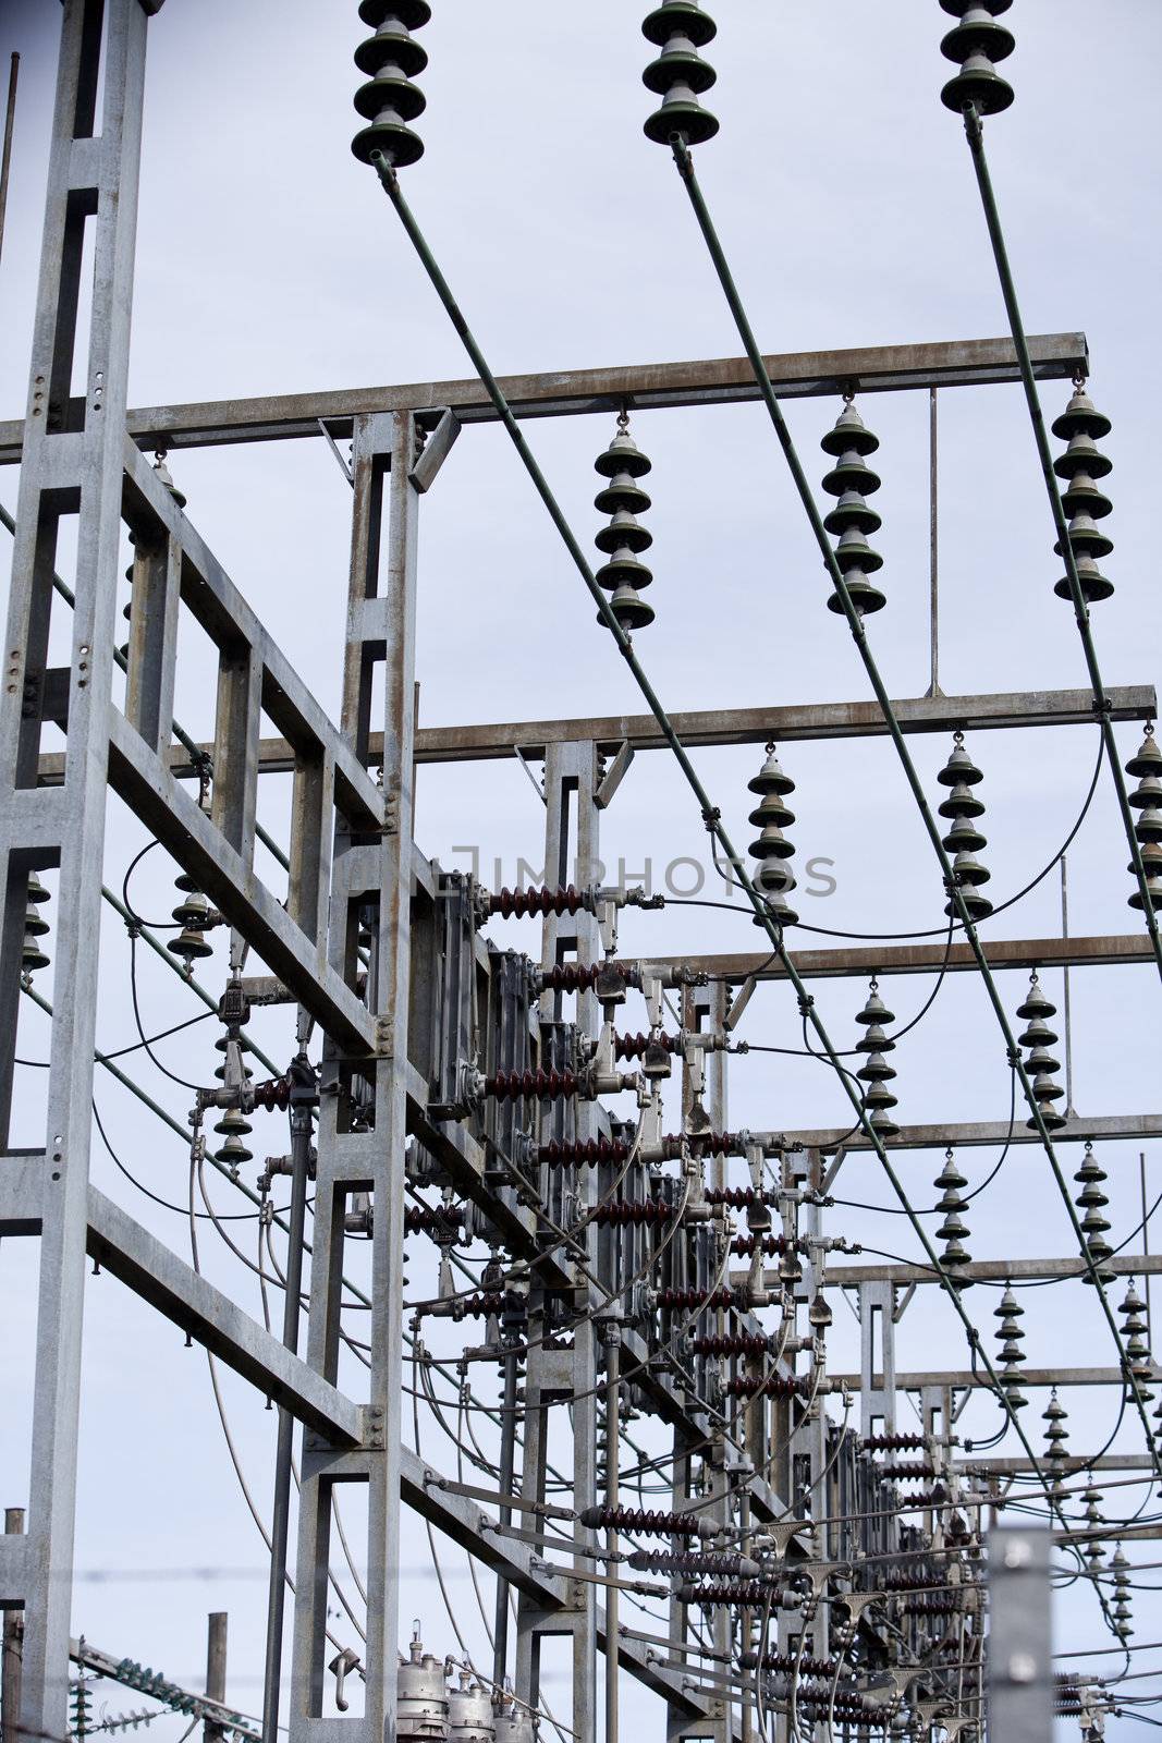
[[[441,1489],[441,1473],[432,1469],[416,1452],[404,1447],[401,1461],[401,1495],[413,1511],[523,1591],[540,1611],[568,1616],[571,1607],[568,1581],[549,1574],[535,1550],[517,1537],[490,1530],[488,1527],[497,1523],[493,1515],[467,1495]],[[601,1611],[598,1611],[598,1644],[605,1649],[605,1614]],[[707,1712],[706,1703],[693,1691],[683,1689],[678,1677],[655,1665],[634,1642],[622,1640],[618,1656],[624,1670],[655,1694],[681,1703],[693,1715]]]

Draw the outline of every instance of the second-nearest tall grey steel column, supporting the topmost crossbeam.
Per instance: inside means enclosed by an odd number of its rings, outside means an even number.
[[[385,575],[380,586],[383,481],[388,472]],[[307,1360],[338,1372],[345,1211],[369,1192],[371,1312],[361,1337],[371,1356],[364,1447],[343,1452],[303,1436],[291,1740],[324,1736],[383,1743],[395,1734],[399,1609],[399,1454],[402,1351],[402,1213],[406,1140],[408,983],[411,957],[416,507],[411,413],[361,417],[354,431],[355,502],[343,682],[343,730],[366,753],[376,662],[385,666],[383,805],[378,840],[354,838],[336,819],[329,955],[350,978],[362,908],[376,945],[368,1004],[378,1058],[352,1065],[328,1044],[319,1110],[315,1239]],[[362,1715],[324,1719],[331,1489],[368,1485],[368,1644]],[[350,1679],[348,1687],[357,1687]]]

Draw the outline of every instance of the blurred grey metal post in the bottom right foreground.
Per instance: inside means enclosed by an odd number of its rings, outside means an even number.
[[[998,1743],[1051,1743],[1052,1658],[1047,1530],[988,1534],[988,1734]]]

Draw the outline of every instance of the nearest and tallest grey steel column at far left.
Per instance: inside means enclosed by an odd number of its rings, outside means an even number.
[[[68,1724],[68,1623],[85,1279],[101,856],[141,159],[143,0],[66,0],[0,694],[0,1149],[10,1142],[31,868],[59,866],[28,1532],[0,1541],[0,1605],[24,1609],[21,1724]],[[96,117],[98,73],[105,99]],[[78,333],[85,227],[92,312]],[[80,396],[71,399],[80,350]],[[37,790],[59,519],[77,516],[64,784]],[[0,1159],[0,1168],[3,1161]]]

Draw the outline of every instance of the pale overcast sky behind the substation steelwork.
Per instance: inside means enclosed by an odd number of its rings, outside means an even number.
[[[641,134],[652,106],[641,85],[652,54],[638,30],[643,10],[625,0],[591,0],[584,10],[545,0],[507,7],[441,0],[423,31],[429,110],[416,125],[427,153],[406,173],[404,192],[498,373],[739,350],[669,153]],[[951,71],[939,54],[949,19],[934,0],[876,7],[719,0],[713,10],[719,38],[707,58],[719,78],[707,105],[721,132],[699,152],[699,173],[760,343],[791,352],[1002,333],[1003,307],[962,125],[939,101]],[[1117,594],[1094,612],[1098,647],[1108,685],[1150,683],[1162,676],[1153,514],[1159,380],[1150,345],[1160,267],[1162,9],[1155,0],[1103,0],[1099,7],[1024,0],[1009,21],[1017,52],[1005,75],[1017,96],[988,125],[993,178],[1028,329],[1082,329],[1089,338],[1092,394],[1113,418],[1103,446],[1115,462],[1108,486],[1115,512],[1106,525],[1117,549],[1103,568]],[[21,52],[0,260],[0,415],[19,417],[59,10],[52,0],[0,0],[0,54]],[[354,3],[322,0],[169,0],[150,26],[131,404],[469,373],[373,173],[348,150],[359,77],[350,54],[362,35]],[[1068,383],[1047,383],[1042,394],[1056,415]],[[817,443],[838,410],[828,401],[789,408],[812,479],[829,464]],[[875,464],[883,476],[875,498],[883,530],[875,544],[885,556],[880,580],[888,607],[871,622],[871,640],[892,694],[918,695],[929,683],[927,396],[866,397],[861,410],[882,437]],[[592,460],[611,434],[605,417],[531,429],[584,542],[599,525],[591,505]],[[862,701],[862,666],[845,626],[824,607],[819,556],[760,408],[641,415],[634,434],[653,458],[650,603],[657,610],[638,650],[667,706]],[[172,472],[192,519],[233,580],[334,708],[350,492],[326,444],[179,453]],[[16,490],[14,472],[0,478],[0,500],[10,509]],[[1019,389],[941,397],[939,509],[942,688],[1084,687],[1071,610],[1052,594],[1061,563],[1052,554]],[[491,425],[467,431],[423,502],[422,722],[639,711],[624,662],[592,617],[503,432]],[[199,737],[211,736],[209,671],[206,648],[183,643],[178,713]],[[1120,741],[1129,755],[1138,730],[1122,727]],[[934,793],[948,749],[944,739],[913,741]],[[983,858],[1000,901],[1052,859],[1071,828],[1092,774],[1096,732],[979,734],[970,749],[984,770],[990,845]],[[700,751],[695,760],[735,838],[746,840],[754,751]],[[791,831],[798,863],[833,859],[838,885],[829,899],[805,896],[803,919],[861,933],[939,927],[939,873],[890,748],[876,741],[793,744],[784,765],[798,783]],[[540,865],[544,812],[517,765],[425,769],[418,786],[418,838],[444,865],[467,865],[469,845],[486,868],[502,856],[507,882],[519,856]],[[286,783],[275,779],[263,795],[263,817],[277,833],[284,814]],[[639,872],[648,858],[657,877],[674,856],[706,858],[697,807],[660,753],[636,760],[605,831],[608,866],[624,858]],[[141,844],[138,826],[113,804],[110,885],[120,887]],[[1139,929],[1139,917],[1125,906],[1125,861],[1106,776],[1070,852],[1071,931]],[[172,872],[162,854],[146,861],[134,885],[143,912],[164,917],[174,899]],[[1051,875],[986,926],[984,936],[1056,931],[1059,891]],[[510,936],[537,953],[530,927]],[[746,917],[671,908],[631,915],[622,945],[629,953],[746,950],[756,938]],[[220,945],[200,978],[218,992],[223,971]],[[38,985],[51,994],[51,971]],[[894,980],[892,1007],[911,1014],[930,985],[929,978]],[[1045,985],[1059,995],[1059,976],[1045,976]],[[838,1044],[850,1046],[864,987],[826,981],[815,990]],[[1023,990],[1023,976],[1002,978],[1009,1009]],[[155,959],[141,967],[141,997],[153,1028],[193,1014],[190,995]],[[274,1056],[289,1055],[286,1018],[267,1016],[254,1027]],[[207,1023],[192,1030],[197,1039],[171,1042],[167,1063],[183,1077],[207,1081],[214,1032]],[[786,987],[763,988],[742,1034],[798,1044]],[[1152,969],[1075,973],[1078,1110],[1155,1112],[1157,1037]],[[103,1048],[134,1039],[115,920],[105,936],[98,1039]],[[44,1049],[45,1025],[31,1013],[21,1027],[21,1053],[44,1058]],[[1009,1114],[1003,1042],[972,976],[949,978],[895,1063],[906,1122]],[[139,1055],[132,1070],[185,1119],[186,1091]],[[28,1077],[28,1136],[19,1142],[37,1142],[40,1086],[37,1074]],[[181,1143],[108,1079],[98,1082],[98,1103],[132,1171],[183,1203]],[[808,1061],[751,1055],[732,1067],[732,1124],[840,1124],[845,1107],[831,1074]],[[280,1122],[265,1121],[256,1133],[258,1159],[284,1142]],[[1063,1157],[1071,1173],[1077,1147]],[[995,1156],[965,1150],[960,1161],[977,1183]],[[1138,1149],[1106,1145],[1103,1161],[1111,1173],[1117,1243],[1141,1215]],[[1146,1152],[1146,1170],[1153,1190],[1162,1189],[1157,1145]],[[937,1171],[937,1157],[901,1157],[920,1204],[934,1203]],[[181,1220],[136,1194],[99,1145],[94,1178],[188,1251]],[[890,1203],[887,1183],[859,1159],[847,1164],[843,1185],[852,1197]],[[226,1190],[225,1183],[216,1189],[223,1208],[246,1208],[226,1203]],[[995,1187],[974,1201],[969,1222],[977,1258],[1073,1250],[1047,1163],[1033,1147],[1012,1154]],[[253,1225],[237,1227],[247,1231],[249,1257]],[[871,1248],[916,1251],[899,1217],[836,1210],[829,1227]],[[216,1281],[260,1311],[254,1278],[221,1243],[209,1245],[204,1258]],[[17,1398],[26,1396],[21,1339],[30,1332],[33,1276],[33,1245],[5,1243],[0,1279]],[[413,1265],[413,1278],[422,1276]],[[1033,1292],[1024,1304],[1031,1363],[1110,1363],[1108,1332],[1091,1292]],[[969,1306],[991,1335],[995,1295],[976,1290]],[[833,1346],[838,1368],[855,1365],[854,1321],[838,1302]],[[963,1367],[963,1333],[942,1302],[925,1299],[909,1309],[897,1361],[904,1368]],[[223,1393],[247,1482],[267,1515],[274,1417],[228,1375]],[[1026,1426],[1040,1445],[1044,1394],[1033,1398]],[[1064,1403],[1071,1450],[1094,1450],[1113,1428],[1115,1400],[1075,1391]],[[986,1436],[995,1421],[995,1403],[979,1400],[962,1429]],[[16,1504],[24,1497],[28,1440],[19,1424],[12,1433],[5,1424],[0,1436],[0,1504]],[[1124,1426],[1115,1450],[1136,1445],[1132,1426]],[[434,1443],[430,1455],[448,1464],[451,1452]],[[1117,1497],[1111,1490],[1111,1506]],[[82,1570],[125,1577],[82,1579],[75,1631],[195,1682],[206,1611],[225,1607],[232,1698],[256,1710],[261,1544],[223,1445],[206,1358],[185,1353],[171,1326],[110,1279],[91,1285],[87,1299],[77,1541]],[[1138,1555],[1150,1560],[1152,1551],[1143,1544]],[[477,1649],[463,1556],[448,1546],[446,1560],[453,1607]],[[193,1567],[235,1572],[211,1583],[190,1577]],[[1139,1640],[1155,1638],[1162,1621],[1157,1604],[1153,1616],[1150,1607],[1152,1595],[1138,1593]],[[432,1649],[455,1647],[422,1530],[409,1532],[406,1544],[404,1624],[411,1616],[422,1616]],[[1063,1598],[1059,1645],[1099,1644],[1092,1598]],[[568,1712],[564,1682],[547,1684],[545,1692],[557,1712]],[[625,1699],[629,1712],[657,1722],[655,1703],[629,1684]],[[113,1694],[113,1710],[129,1705]],[[1113,1720],[1108,1736],[1134,1729]]]

